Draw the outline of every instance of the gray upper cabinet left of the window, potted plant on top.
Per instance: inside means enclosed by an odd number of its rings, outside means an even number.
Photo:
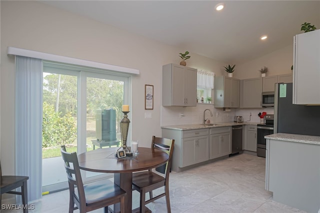
[[[162,66],[162,106],[196,106],[196,69]]]

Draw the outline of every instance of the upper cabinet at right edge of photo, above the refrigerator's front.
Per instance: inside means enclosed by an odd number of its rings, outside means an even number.
[[[294,36],[293,104],[320,104],[320,29]]]

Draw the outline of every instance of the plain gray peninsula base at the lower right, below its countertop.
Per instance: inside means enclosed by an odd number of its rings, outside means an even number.
[[[319,156],[318,144],[266,139],[265,190],[273,192],[272,200],[305,212],[318,213]]]

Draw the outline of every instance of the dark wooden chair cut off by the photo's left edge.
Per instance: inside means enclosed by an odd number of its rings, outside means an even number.
[[[0,200],[2,199],[2,194],[13,194],[22,196],[22,205],[23,205],[23,213],[27,213],[28,209],[26,208],[28,204],[28,193],[26,187],[26,181],[29,179],[27,176],[2,176],[1,172],[1,163],[0,163]],[[13,191],[21,187],[21,192]],[[0,202],[1,204],[1,202]]]

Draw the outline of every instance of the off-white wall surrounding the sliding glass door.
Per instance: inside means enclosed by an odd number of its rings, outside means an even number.
[[[179,63],[178,49],[37,1],[0,1],[1,4],[1,162],[14,174],[14,57],[13,46],[140,70],[132,77],[130,103],[132,138],[144,147],[152,135],[161,136],[162,65]],[[224,63],[190,53],[187,66],[220,72]],[[153,110],[144,110],[144,84],[154,86]],[[202,109],[201,109],[202,110]],[[144,119],[151,112],[152,119]],[[169,112],[170,113],[170,112]],[[165,115],[164,115],[165,116]],[[186,116],[186,118],[188,115]]]

